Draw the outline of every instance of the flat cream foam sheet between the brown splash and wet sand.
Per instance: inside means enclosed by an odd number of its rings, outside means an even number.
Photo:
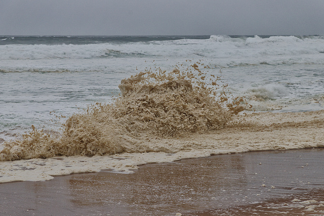
[[[47,181],[54,176],[104,169],[131,173],[146,163],[171,162],[214,154],[324,147],[324,110],[299,113],[251,113],[250,124],[185,138],[143,139],[152,152],[106,156],[55,156],[1,162],[0,182]]]

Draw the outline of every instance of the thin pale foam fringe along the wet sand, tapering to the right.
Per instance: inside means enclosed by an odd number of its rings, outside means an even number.
[[[315,147],[315,146],[314,146]],[[215,154],[241,153],[262,150],[261,146],[240,146],[233,149],[200,149],[179,151],[175,154],[165,152],[151,153],[123,153],[111,156],[71,156],[53,157],[48,159],[29,159],[19,161],[0,162],[0,183],[15,181],[49,181],[55,176],[65,176],[77,173],[98,172],[109,169],[121,174],[129,174],[146,163],[172,162],[181,159],[207,157]],[[273,149],[279,147],[273,146]],[[296,148],[287,146],[286,149]],[[270,150],[269,148],[265,148]],[[279,148],[280,149],[280,148]]]

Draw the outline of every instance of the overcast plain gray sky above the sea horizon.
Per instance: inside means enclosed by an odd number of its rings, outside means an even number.
[[[0,35],[203,34],[324,34],[324,1],[0,1]]]

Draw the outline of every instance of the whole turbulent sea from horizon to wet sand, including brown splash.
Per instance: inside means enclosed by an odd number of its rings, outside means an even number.
[[[312,128],[322,129],[322,112],[310,112],[317,121],[307,113],[286,113],[323,109],[323,55],[324,37],[319,35],[0,36],[1,159],[122,152],[133,158],[121,165],[98,162],[95,168],[70,164],[73,168],[66,173],[71,173],[128,170],[146,162],[172,161],[179,155],[318,147],[321,131]],[[140,72],[145,74],[135,75]],[[217,88],[211,90],[213,86]],[[101,104],[91,105],[97,102]],[[248,117],[236,119],[235,112],[243,108],[240,113]],[[281,114],[258,118],[251,111]],[[258,119],[265,117],[260,123]],[[281,119],[277,124],[287,130],[304,125],[311,128],[303,131],[305,136],[313,135],[299,142],[296,138],[294,144],[288,138],[264,141],[268,135],[260,134],[254,142],[227,146],[223,145],[228,142],[225,135],[222,141],[211,135],[224,129],[232,133],[238,127],[256,132],[261,124],[275,130],[273,119]],[[196,137],[189,138],[193,134]],[[245,147],[239,147],[240,143]],[[147,152],[161,153],[161,157],[152,159]],[[143,153],[147,155],[138,155]],[[19,162],[17,166],[28,169]],[[67,165],[63,166],[66,170]],[[47,175],[62,175],[62,171],[54,172]],[[3,177],[2,182],[26,179],[24,175],[16,180]]]

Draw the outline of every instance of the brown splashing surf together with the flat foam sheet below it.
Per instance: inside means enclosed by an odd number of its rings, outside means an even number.
[[[118,87],[120,95],[111,103],[89,105],[58,131],[32,125],[21,138],[5,141],[0,182],[47,181],[103,169],[131,173],[146,163],[324,147],[323,110],[248,112],[253,98],[271,101],[286,92],[269,85],[247,98],[234,97],[222,72],[202,61],[168,71],[153,64]]]

